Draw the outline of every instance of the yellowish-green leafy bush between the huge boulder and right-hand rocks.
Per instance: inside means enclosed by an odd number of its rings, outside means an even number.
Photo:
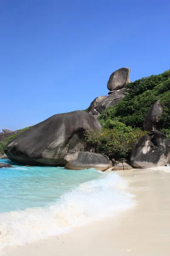
[[[107,119],[101,131],[88,132],[87,141],[95,145],[96,152],[106,154],[110,159],[120,160],[126,158],[133,145],[147,134],[140,128],[126,126],[118,120]]]

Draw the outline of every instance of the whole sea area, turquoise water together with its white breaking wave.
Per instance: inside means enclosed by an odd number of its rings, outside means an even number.
[[[0,169],[0,252],[71,232],[134,204],[114,172],[12,166]]]

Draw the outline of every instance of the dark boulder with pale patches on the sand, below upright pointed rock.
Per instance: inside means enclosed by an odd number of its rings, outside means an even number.
[[[130,165],[134,168],[165,166],[166,163],[170,163],[170,140],[159,131],[141,137],[130,153]]]

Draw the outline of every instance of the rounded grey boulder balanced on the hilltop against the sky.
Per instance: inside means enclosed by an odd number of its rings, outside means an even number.
[[[130,68],[122,67],[119,70],[114,71],[108,80],[108,90],[119,90],[130,83],[129,79]]]

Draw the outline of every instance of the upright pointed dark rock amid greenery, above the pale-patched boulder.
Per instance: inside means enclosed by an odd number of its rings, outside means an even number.
[[[144,119],[144,130],[155,131],[159,126],[162,109],[159,102],[155,102],[147,112]]]

